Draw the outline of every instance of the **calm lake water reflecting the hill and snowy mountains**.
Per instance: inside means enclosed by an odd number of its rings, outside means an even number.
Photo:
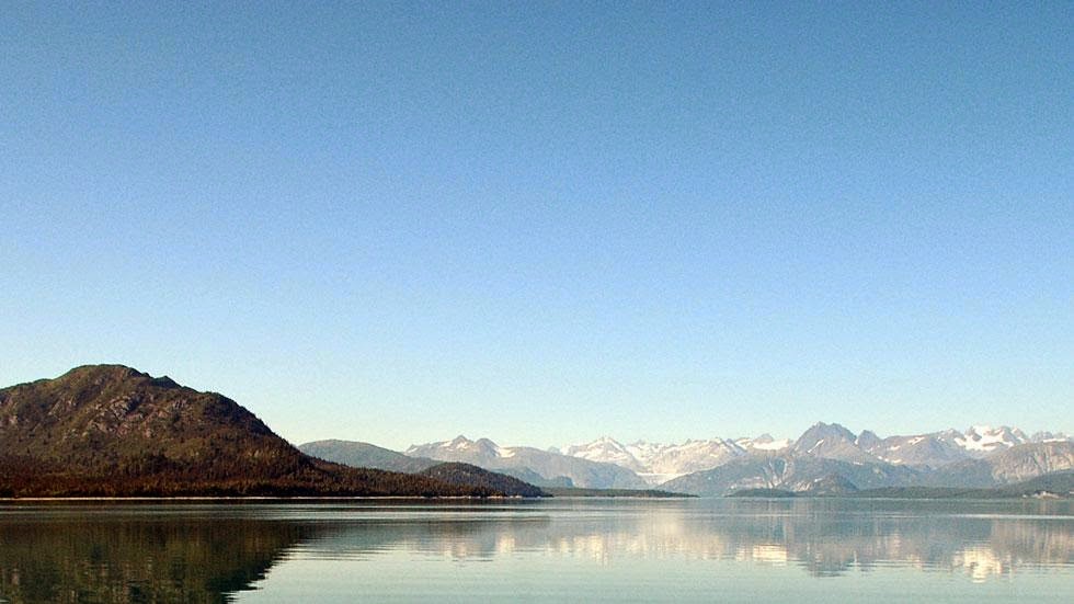
[[[1074,502],[0,506],[0,602],[1074,602]]]

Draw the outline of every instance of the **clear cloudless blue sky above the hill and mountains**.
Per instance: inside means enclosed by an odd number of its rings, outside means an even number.
[[[295,443],[1074,432],[1070,2],[11,2],[0,385]]]

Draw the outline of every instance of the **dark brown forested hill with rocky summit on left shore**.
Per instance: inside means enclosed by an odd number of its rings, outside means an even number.
[[[0,494],[521,493],[315,459],[227,397],[92,365],[0,389]]]

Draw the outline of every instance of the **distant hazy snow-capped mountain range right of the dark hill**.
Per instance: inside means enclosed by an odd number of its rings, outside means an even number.
[[[763,434],[682,444],[622,444],[602,437],[549,451],[458,436],[413,445],[403,453],[389,452],[392,455],[387,457],[380,447],[345,441],[308,443],[300,448],[358,466],[401,468],[414,463],[465,461],[542,487],[659,486],[700,495],[741,489],[990,489],[1074,468],[1074,442],[1066,435],[1039,432],[1029,436],[1007,426],[881,438],[870,431],[855,434],[839,424],[821,422],[793,441]]]

